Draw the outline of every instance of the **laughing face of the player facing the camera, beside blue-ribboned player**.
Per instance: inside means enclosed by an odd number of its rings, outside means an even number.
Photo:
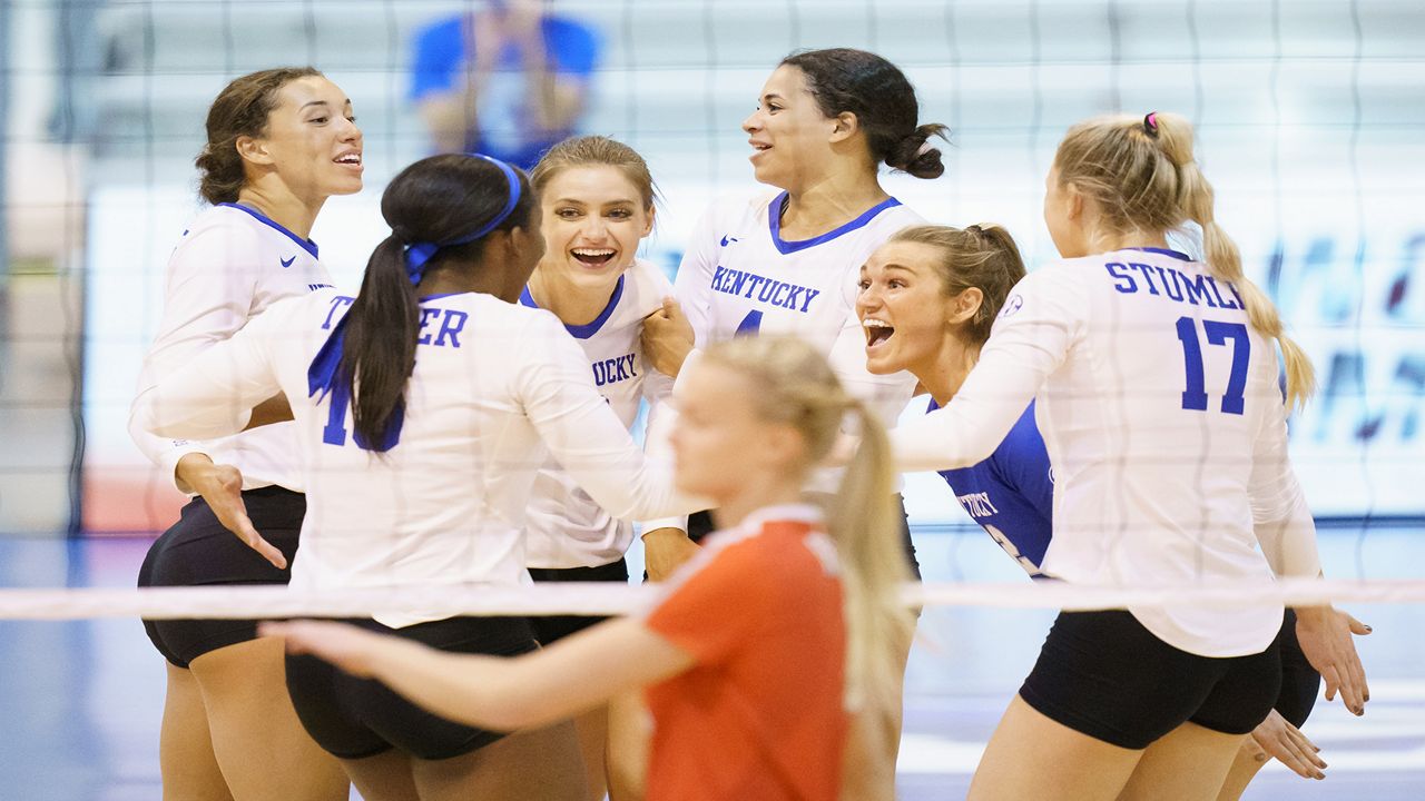
[[[544,244],[540,272],[580,289],[613,291],[653,231],[653,208],[617,167],[590,164],[556,172],[540,194]]]

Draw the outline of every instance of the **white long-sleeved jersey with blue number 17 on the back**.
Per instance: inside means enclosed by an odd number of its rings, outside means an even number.
[[[1231,284],[1174,251],[1123,249],[1020,281],[955,399],[892,440],[902,469],[968,466],[1037,392],[1054,470],[1045,573],[1094,586],[1268,582],[1263,536],[1273,567],[1315,576],[1277,375],[1275,342],[1248,325]],[[1258,653],[1281,626],[1273,603],[1130,611],[1208,657]]]

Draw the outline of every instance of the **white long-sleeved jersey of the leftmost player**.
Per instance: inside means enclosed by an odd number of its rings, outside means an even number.
[[[144,359],[138,393],[221,342],[284,298],[331,286],[316,244],[258,211],[219,204],[198,215],[168,258],[164,316]],[[167,476],[185,453],[207,453],[242,472],[242,487],[302,490],[294,465],[291,423],[262,426],[207,442],[152,436],[134,425],[130,436]],[[188,492],[188,487],[180,487]]]

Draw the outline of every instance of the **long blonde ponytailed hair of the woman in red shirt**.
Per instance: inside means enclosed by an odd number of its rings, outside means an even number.
[[[752,408],[767,422],[792,426],[807,446],[807,469],[822,462],[851,413],[861,442],[829,502],[826,529],[836,543],[846,626],[846,707],[865,714],[872,754],[893,768],[901,720],[902,650],[913,617],[901,597],[911,580],[895,503],[891,442],[881,422],[846,395],[826,358],[792,336],[744,336],[710,346],[704,363],[751,383]]]

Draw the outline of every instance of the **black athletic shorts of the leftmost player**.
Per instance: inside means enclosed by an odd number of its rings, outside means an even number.
[[[161,537],[138,569],[140,587],[202,587],[207,584],[286,584],[292,577],[296,537],[306,515],[306,496],[279,486],[244,490],[248,517],[262,539],[286,557],[278,570],[218,522],[208,502],[195,497]],[[256,620],[145,620],[144,630],[158,653],[178,667],[200,656],[255,640]]]

